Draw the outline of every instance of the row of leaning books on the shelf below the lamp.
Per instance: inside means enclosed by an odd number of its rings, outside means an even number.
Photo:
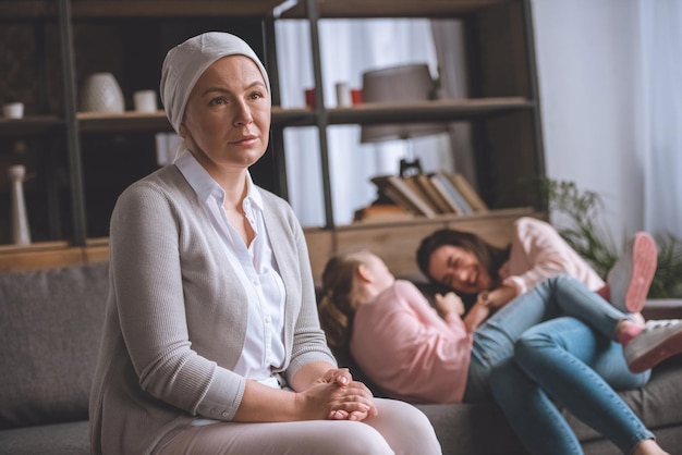
[[[471,214],[488,210],[478,193],[458,172],[438,171],[411,176],[378,175],[372,182],[377,185],[380,199],[390,201],[388,205],[392,204],[412,216],[434,218],[439,214]],[[369,218],[370,210],[365,209],[365,218]],[[364,209],[358,210],[360,214],[356,212],[356,220],[362,220],[362,210]]]

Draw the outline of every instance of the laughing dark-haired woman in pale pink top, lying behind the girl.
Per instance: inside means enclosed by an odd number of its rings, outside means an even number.
[[[535,218],[514,222],[510,246],[498,248],[476,234],[442,229],[425,237],[417,249],[419,270],[429,281],[474,300],[474,313],[484,320],[495,308],[541,281],[567,273],[598,292],[624,312],[642,310],[656,271],[656,244],[641,232],[630,256],[611,269],[607,283],[550,224]],[[632,260],[630,260],[632,259]],[[638,276],[637,281],[631,276]],[[646,285],[643,285],[646,284]],[[473,315],[472,315],[472,319]]]

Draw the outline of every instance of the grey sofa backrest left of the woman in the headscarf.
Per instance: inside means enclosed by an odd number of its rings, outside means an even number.
[[[87,419],[108,263],[0,273],[0,429]]]

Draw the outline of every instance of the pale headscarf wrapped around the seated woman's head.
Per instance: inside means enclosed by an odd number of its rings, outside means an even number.
[[[223,32],[197,35],[169,50],[161,70],[161,102],[176,133],[180,133],[187,98],[199,76],[214,62],[228,56],[245,56],[253,60],[270,94],[268,73],[256,52],[243,39]]]

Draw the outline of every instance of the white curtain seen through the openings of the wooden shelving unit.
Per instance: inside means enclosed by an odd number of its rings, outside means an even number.
[[[304,90],[314,85],[308,23],[278,21],[276,27],[282,106],[303,107]],[[322,20],[319,37],[327,107],[336,106],[336,83],[362,88],[362,73],[367,70],[427,63],[431,74],[437,75],[436,50],[427,20]],[[352,221],[356,209],[376,198],[372,176],[399,172],[406,145],[402,142],[361,144],[357,125],[331,126],[327,134],[333,219],[337,224],[345,224]],[[412,140],[415,156],[426,172],[452,169],[447,134]],[[321,225],[325,211],[316,128],[287,128],[284,148],[289,200],[303,225]]]

